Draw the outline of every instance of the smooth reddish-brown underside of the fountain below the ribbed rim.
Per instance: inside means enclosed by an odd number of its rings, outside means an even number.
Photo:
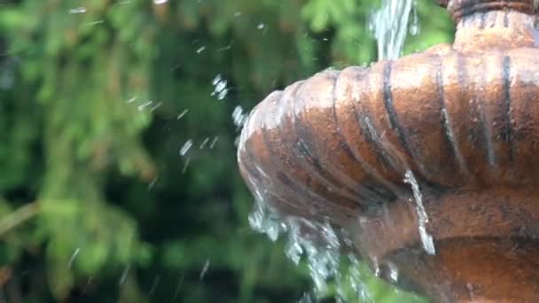
[[[538,302],[538,194],[496,188],[426,195],[434,255],[422,247],[415,206],[406,201],[348,229],[361,251],[398,268],[404,289],[441,302]]]

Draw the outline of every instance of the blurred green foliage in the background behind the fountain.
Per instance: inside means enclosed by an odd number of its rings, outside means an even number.
[[[451,40],[434,2],[405,53]],[[0,301],[301,299],[307,268],[249,228],[232,113],[371,63],[377,7],[0,0]],[[415,300],[365,279],[375,302]]]

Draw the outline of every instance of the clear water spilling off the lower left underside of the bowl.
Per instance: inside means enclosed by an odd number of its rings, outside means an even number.
[[[355,255],[348,255],[348,274],[344,275],[347,271],[341,271],[341,248],[347,242],[329,222],[308,221],[293,216],[281,217],[263,203],[260,192],[255,196],[258,198],[254,211],[249,215],[251,227],[268,235],[272,241],[277,241],[280,235],[287,233],[285,255],[296,265],[305,261],[314,283],[312,292],[316,299],[323,298],[332,283],[335,285],[335,299],[338,302],[348,297],[348,290],[344,285],[352,286],[356,298],[364,302],[371,301],[363,284],[364,277],[359,270],[359,260]],[[300,302],[312,301],[309,293],[300,299]]]

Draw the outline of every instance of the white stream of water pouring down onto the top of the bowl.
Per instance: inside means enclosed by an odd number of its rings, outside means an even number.
[[[379,60],[401,57],[412,11],[410,34],[418,34],[416,7],[415,0],[384,0],[382,8],[372,14],[370,27],[378,42]]]

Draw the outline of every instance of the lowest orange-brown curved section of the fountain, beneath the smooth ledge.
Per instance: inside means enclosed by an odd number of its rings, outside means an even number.
[[[539,302],[539,244],[529,239],[454,238],[426,256],[408,249],[394,256],[404,287],[434,302]]]

